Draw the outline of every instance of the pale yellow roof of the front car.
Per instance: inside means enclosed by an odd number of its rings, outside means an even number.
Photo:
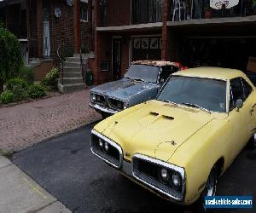
[[[219,68],[210,66],[201,66],[197,68],[189,68],[180,72],[175,72],[173,75],[200,77],[200,78],[214,78],[220,80],[230,80],[236,77],[246,78],[246,75],[240,70],[230,68]]]

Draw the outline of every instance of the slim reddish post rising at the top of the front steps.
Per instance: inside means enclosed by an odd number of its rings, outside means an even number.
[[[75,0],[73,5],[73,21],[74,21],[74,52],[80,53],[81,32],[80,32],[80,0]]]

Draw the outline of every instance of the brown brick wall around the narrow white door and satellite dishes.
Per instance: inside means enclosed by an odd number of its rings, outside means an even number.
[[[49,1],[49,0],[48,0]],[[76,0],[79,1],[79,0]],[[36,1],[33,1],[36,2]],[[74,36],[74,6],[70,7],[67,5],[66,1],[55,0],[49,1],[50,11],[49,11],[49,37],[50,37],[50,57],[55,63],[58,62],[57,49],[61,43],[65,43],[71,49],[74,49],[75,36]],[[89,14],[91,9],[91,1],[89,5]],[[55,17],[55,8],[61,9],[61,17]],[[32,13],[31,13],[32,14]],[[32,19],[32,54],[31,57],[43,58],[44,56],[44,28],[43,28],[43,0],[38,0],[36,5],[36,18]],[[34,15],[32,14],[32,15]],[[79,14],[78,14],[78,18]],[[92,49],[91,34],[92,29],[90,26],[90,15],[89,22],[78,21],[80,27],[80,43],[86,43],[89,49]],[[38,54],[35,52],[38,51]]]

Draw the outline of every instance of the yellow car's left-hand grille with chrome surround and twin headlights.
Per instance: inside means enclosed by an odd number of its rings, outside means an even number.
[[[106,149],[106,146],[108,146],[108,149]],[[116,168],[121,167],[123,158],[121,147],[107,137],[98,134],[95,130],[91,131],[90,149],[92,153],[105,160],[108,164],[112,164]]]

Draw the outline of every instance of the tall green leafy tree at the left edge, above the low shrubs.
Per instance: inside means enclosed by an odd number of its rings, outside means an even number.
[[[0,26],[0,91],[3,83],[18,76],[23,64],[20,42],[14,34]]]

